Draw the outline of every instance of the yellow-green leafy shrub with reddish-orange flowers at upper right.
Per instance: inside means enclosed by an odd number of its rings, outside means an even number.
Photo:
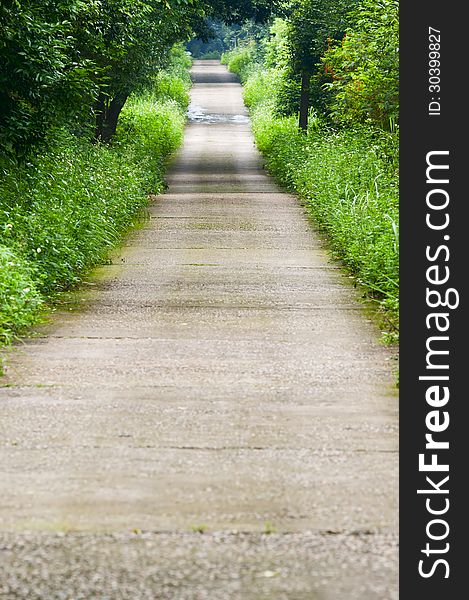
[[[323,58],[333,75],[332,112],[338,121],[392,128],[399,116],[399,3],[364,0],[353,18]]]

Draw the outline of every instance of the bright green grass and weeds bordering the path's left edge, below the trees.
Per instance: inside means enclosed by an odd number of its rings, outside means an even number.
[[[28,162],[0,160],[0,344],[105,261],[148,195],[164,189],[167,158],[183,138],[187,66],[128,101],[111,146],[60,129]]]

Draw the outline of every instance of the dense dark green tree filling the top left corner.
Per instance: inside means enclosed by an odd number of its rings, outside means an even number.
[[[83,2],[0,4],[0,146],[21,154],[53,125],[82,115],[96,91],[93,66],[75,47]],[[86,110],[86,108],[85,108]]]

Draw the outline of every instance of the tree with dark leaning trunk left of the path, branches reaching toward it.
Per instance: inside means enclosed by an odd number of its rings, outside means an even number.
[[[97,66],[99,93],[95,136],[109,142],[130,94],[164,66],[169,49],[192,31],[200,8],[185,0],[102,0],[100,19],[85,35],[76,32],[80,52]]]

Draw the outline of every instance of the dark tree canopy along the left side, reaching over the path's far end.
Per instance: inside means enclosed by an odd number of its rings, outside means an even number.
[[[2,0],[0,146],[21,154],[53,125],[108,141],[127,97],[208,18],[266,19],[267,0]]]

